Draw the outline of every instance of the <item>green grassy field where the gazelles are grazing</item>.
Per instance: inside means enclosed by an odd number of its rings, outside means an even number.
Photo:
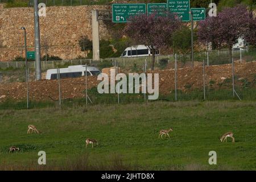
[[[255,170],[255,109],[250,101],[191,101],[0,110],[0,168],[36,163],[44,150],[52,166],[86,155],[88,163],[102,164],[98,169],[119,158],[131,169]],[[28,124],[42,133],[27,135]],[[158,139],[159,130],[170,127],[171,138]],[[234,132],[236,143],[218,140],[227,131]],[[99,146],[85,150],[87,137]],[[23,151],[8,154],[11,145]],[[216,166],[208,164],[211,150],[217,152]]]

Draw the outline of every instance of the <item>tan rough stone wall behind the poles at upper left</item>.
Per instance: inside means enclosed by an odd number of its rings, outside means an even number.
[[[46,17],[40,17],[41,55],[75,59],[85,56],[79,46],[83,35],[92,38],[92,10],[108,6],[52,6],[47,7]],[[19,7],[3,9],[0,6],[0,61],[24,57],[24,36],[20,27],[26,27],[28,51],[34,51],[34,9]],[[100,38],[108,38],[108,30],[100,21]]]

